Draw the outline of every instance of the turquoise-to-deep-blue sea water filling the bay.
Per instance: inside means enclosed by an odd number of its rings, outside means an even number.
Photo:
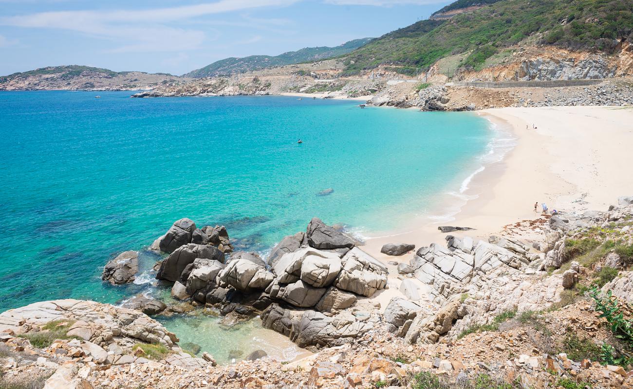
[[[155,292],[144,281],[158,255],[142,251],[146,274],[123,287],[101,282],[103,265],[183,217],[225,225],[239,249],[262,253],[313,216],[360,233],[397,228],[458,190],[494,135],[472,113],[95,94],[0,92],[0,311]],[[181,337],[201,325],[165,321]]]

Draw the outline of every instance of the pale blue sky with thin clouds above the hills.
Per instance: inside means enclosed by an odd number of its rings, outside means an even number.
[[[218,59],[379,37],[445,0],[0,0],[0,75],[89,65],[180,75]]]

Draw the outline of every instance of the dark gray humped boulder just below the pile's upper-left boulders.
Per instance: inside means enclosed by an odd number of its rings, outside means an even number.
[[[180,246],[161,263],[156,274],[157,280],[178,281],[188,264],[196,258],[213,259],[224,263],[224,253],[211,245],[187,244]]]

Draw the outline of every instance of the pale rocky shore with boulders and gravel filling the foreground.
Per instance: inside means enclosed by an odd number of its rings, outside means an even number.
[[[56,300],[0,314],[1,382],[48,389],[629,388],[632,204],[622,197],[609,211],[526,221],[530,236],[541,237],[534,242],[508,230],[479,240],[448,235],[446,245],[393,264],[316,218],[267,261],[233,252],[221,226],[199,229],[181,219],[152,245],[170,252],[156,277],[173,282],[176,299],[232,320],[258,314],[316,353],[289,363],[259,353],[215,366],[212,355],[182,349],[141,312],[166,312],[164,303],[145,298],[126,309]],[[410,256],[411,249],[383,251]],[[124,252],[104,279],[129,281],[134,259]],[[384,306],[382,293],[391,296]]]

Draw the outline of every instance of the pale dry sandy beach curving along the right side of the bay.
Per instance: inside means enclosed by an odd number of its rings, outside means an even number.
[[[445,245],[448,234],[439,232],[439,225],[472,227],[451,235],[487,238],[505,226],[539,218],[542,202],[550,211],[606,210],[619,195],[633,194],[633,180],[627,179],[633,166],[633,107],[496,108],[479,114],[511,131],[517,145],[503,161],[475,175],[466,194],[477,198],[462,206],[453,221],[417,220],[408,232],[370,237],[361,247],[365,252],[385,264],[408,263],[413,252],[392,257],[380,248],[388,243],[415,244],[416,249],[432,242]],[[534,213],[534,202],[539,202],[539,213]],[[541,234],[524,232],[523,237],[538,240]],[[382,307],[401,295],[397,266],[388,268],[389,289],[374,296]],[[423,292],[425,285],[418,285]]]

